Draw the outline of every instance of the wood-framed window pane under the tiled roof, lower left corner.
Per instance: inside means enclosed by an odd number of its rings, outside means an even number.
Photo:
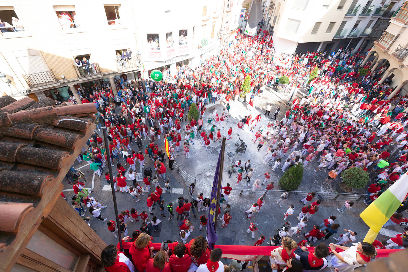
[[[73,271],[79,260],[77,254],[57,243],[40,230],[34,232],[26,248],[71,271]]]

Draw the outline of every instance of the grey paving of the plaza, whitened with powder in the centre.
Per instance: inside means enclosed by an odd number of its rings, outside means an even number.
[[[302,93],[299,93],[299,95],[302,95]],[[265,125],[271,120],[271,117],[265,117],[263,109],[266,106],[267,102],[271,102],[273,104],[273,108],[271,111],[271,116],[273,112],[275,111],[275,108],[277,105],[281,106],[281,112],[278,116],[279,119],[282,119],[284,116],[284,113],[286,113],[287,109],[285,106],[285,103],[287,102],[288,98],[290,96],[290,93],[275,93],[274,91],[265,91],[260,95],[260,97],[257,97],[255,99],[255,104],[254,107],[249,108],[250,106],[244,102],[230,102],[231,105],[231,110],[230,110],[230,117],[228,117],[227,121],[224,122],[223,127],[220,128],[222,135],[226,135],[228,128],[231,126],[233,128],[233,139],[227,141],[227,146],[226,146],[226,153],[231,152],[233,157],[228,157],[228,155],[225,155],[225,160],[224,160],[224,176],[223,176],[223,186],[225,186],[226,182],[229,182],[231,184],[231,187],[233,189],[237,187],[241,187],[244,189],[245,187],[243,186],[235,186],[236,179],[235,176],[233,175],[231,179],[228,178],[227,175],[227,170],[228,170],[228,163],[232,161],[236,161],[238,159],[241,159],[242,162],[244,163],[247,159],[251,159],[251,165],[253,168],[255,168],[255,174],[251,181],[255,181],[255,179],[259,178],[261,179],[263,177],[264,172],[266,170],[271,170],[270,165],[265,165],[262,163],[262,160],[264,159],[265,151],[263,150],[264,148],[262,147],[261,150],[258,152],[256,149],[257,144],[251,143],[252,136],[254,135],[253,132],[250,132],[249,129],[247,128],[246,130],[242,130],[240,132],[240,136],[236,135],[237,131],[237,122],[239,119],[242,119],[245,114],[247,114],[248,111],[250,111],[253,115],[262,113],[262,119],[260,124],[257,126]],[[209,105],[208,111],[206,111],[204,115],[204,121],[208,119],[209,115],[212,115],[213,113],[213,108],[217,108],[218,113],[221,112],[222,108],[224,107],[224,104],[216,104],[216,105]],[[182,127],[185,126],[185,122],[182,122]],[[203,129],[205,131],[209,131],[211,125],[208,123],[204,123]],[[98,131],[98,133],[100,133]],[[182,136],[184,137],[184,131],[182,133]],[[238,137],[241,137],[243,141],[248,144],[248,147],[246,149],[246,152],[244,154],[237,154],[235,153],[235,141],[237,141]],[[156,140],[157,144],[162,145],[162,139],[161,140]],[[144,144],[147,143],[146,141],[143,141]],[[209,191],[208,187],[212,185],[213,182],[213,172],[215,171],[215,165],[217,163],[217,156],[219,154],[221,143],[218,142],[212,142],[210,147],[208,148],[208,151],[205,151],[205,149],[201,146],[200,140],[196,139],[195,140],[195,145],[191,145],[190,148],[190,154],[191,156],[186,159],[186,157],[182,154],[182,150],[180,149],[180,152],[177,153],[177,157],[175,160],[177,161],[177,164],[182,167],[182,170],[185,170],[189,175],[196,179],[200,179],[203,183],[197,183],[197,187],[195,189],[194,194],[197,195],[200,192],[204,192],[204,197],[209,197]],[[138,151],[138,148],[135,144],[131,144],[131,147]],[[146,158],[146,166],[153,168],[153,161],[148,160],[148,157]],[[100,203],[103,203],[104,205],[107,205],[108,207],[104,210],[102,210],[102,217],[108,218],[109,220],[114,220],[115,219],[115,213],[113,209],[113,200],[111,196],[111,190],[110,190],[110,185],[107,184],[104,175],[102,175],[102,179],[98,176],[93,175],[91,170],[89,170],[89,166],[87,165],[86,162],[82,161],[81,163],[75,162],[74,164],[75,168],[80,168],[82,172],[85,173],[85,178],[86,178],[86,187],[87,188],[93,188],[93,197],[95,197]],[[81,168],[82,167],[82,168]],[[327,173],[322,171],[322,172],[317,172],[315,173],[313,169],[317,167],[317,163],[313,162],[307,166],[307,168],[304,171],[304,178],[302,181],[302,185],[299,187],[298,190],[301,191],[335,191],[333,185],[322,185],[322,181],[327,177]],[[105,169],[106,170],[106,169]],[[113,172],[114,175],[116,175],[117,170],[116,167],[113,166]],[[140,172],[140,170],[137,169],[137,172]],[[276,172],[272,172],[271,175],[271,180],[275,181],[275,186],[276,189],[278,188],[277,186],[277,181],[279,181],[279,178],[282,177],[283,172],[280,170],[280,168],[277,169]],[[184,181],[182,177],[177,174],[177,169],[175,170],[169,170],[167,168],[166,172],[166,177],[169,176],[171,180],[171,189],[172,193],[165,192],[163,194],[163,199],[165,201],[165,205],[167,205],[170,202],[177,203],[177,198],[179,196],[184,196],[184,197],[189,197],[188,191],[186,189],[186,184],[189,184],[189,181],[186,180]],[[263,181],[263,179],[262,179]],[[251,182],[252,183],[252,182]],[[164,187],[164,181],[160,179],[160,185]],[[131,181],[128,180],[128,186],[131,186]],[[246,188],[248,189],[248,188]],[[260,210],[259,213],[253,215],[251,217],[251,221],[254,222],[258,228],[257,231],[255,231],[255,239],[252,239],[251,234],[246,233],[246,230],[248,229],[250,220],[246,218],[246,214],[244,213],[245,210],[247,210],[252,203],[256,202],[257,198],[262,195],[262,192],[264,190],[264,186],[262,186],[260,189],[256,190],[255,192],[251,193],[251,197],[248,197],[248,194],[243,194],[242,197],[239,197],[238,195],[232,195],[228,200],[229,204],[231,205],[231,223],[228,224],[226,228],[222,228],[221,222],[218,222],[218,227],[217,227],[217,234],[219,237],[218,243],[220,244],[233,244],[233,245],[253,245],[257,238],[259,237],[260,234],[264,234],[266,237],[266,241],[264,245],[266,245],[266,242],[268,241],[269,237],[273,237],[274,234],[277,233],[276,228],[281,227],[284,224],[284,212],[286,212],[287,207],[290,206],[290,204],[293,204],[295,206],[295,214],[290,216],[288,218],[288,221],[292,223],[293,226],[295,226],[298,221],[296,219],[297,215],[300,212],[300,209],[303,207],[302,203],[299,203],[299,198],[293,198],[289,197],[288,201],[285,201],[282,203],[282,208],[276,205],[275,201],[277,197],[272,196],[266,196],[265,198],[265,204],[262,206],[262,209]],[[365,191],[365,190],[364,190]],[[67,197],[67,199],[71,199],[71,195],[73,194],[73,191],[71,190],[71,187],[67,184],[66,188],[64,190],[64,193]],[[121,192],[116,192],[116,197],[118,201],[118,210],[119,212],[121,210],[130,210],[131,208],[135,208],[138,212],[141,212],[142,210],[146,210],[148,212],[147,206],[146,206],[146,198],[147,194],[144,196],[140,197],[140,201],[135,203],[133,199],[129,196],[128,193],[121,193]],[[189,197],[189,199],[191,199]],[[354,230],[356,231],[357,234],[357,241],[362,241],[364,238],[364,235],[366,234],[368,230],[368,226],[359,218],[359,213],[364,210],[366,205],[364,203],[356,203],[351,210],[346,210],[344,214],[339,213],[336,208],[340,208],[342,206],[342,201],[322,201],[320,205],[319,211],[313,215],[308,223],[308,226],[304,228],[305,232],[308,232],[313,226],[313,224],[321,224],[323,223],[323,219],[328,218],[330,215],[336,215],[338,217],[337,223],[340,224],[340,229],[349,229],[349,230]],[[167,208],[165,209],[165,215],[166,218],[160,217],[160,212],[158,212],[158,205],[155,206],[155,210],[153,210],[153,213],[157,215],[157,217],[162,220],[162,223],[160,223],[160,230],[158,232],[154,232],[153,229],[151,230],[151,236],[153,237],[155,242],[161,242],[167,239],[171,240],[178,240],[181,242],[181,239],[179,237],[180,229],[178,227],[178,221],[176,220],[175,217],[173,217],[172,221],[168,221],[167,218],[169,216],[169,213],[167,212]],[[224,210],[224,207],[221,207],[221,210]],[[208,214],[208,212],[200,212],[199,215],[202,214]],[[86,212],[86,215],[89,215],[89,212]],[[149,216],[149,219],[151,219],[151,215]],[[190,219],[195,228],[193,233],[191,234],[191,238],[196,237],[197,235],[204,235],[206,234],[205,229],[203,229],[202,232],[199,230],[200,223],[198,221],[198,216],[197,218],[194,218],[193,215],[191,215]],[[118,239],[113,237],[113,234],[110,233],[107,229],[106,223],[103,223],[102,221],[99,221],[97,219],[94,219],[91,217],[91,220],[89,221],[91,228],[95,230],[95,232],[102,237],[102,239],[110,244],[110,243],[117,243]],[[128,231],[129,235],[132,234],[134,230],[139,230],[141,226],[141,221],[139,222],[130,222],[128,221]],[[382,240],[382,239],[389,239],[389,237],[395,236],[397,232],[400,232],[402,230],[401,226],[388,226],[386,228],[383,228],[380,232],[380,235],[377,239]],[[341,234],[341,232],[339,232]],[[338,235],[337,234],[337,237]],[[333,235],[333,237],[336,237],[336,235]],[[301,241],[302,237],[294,237],[296,241]],[[326,244],[333,242],[334,239],[330,238],[327,241],[319,241],[319,242],[324,242]]]

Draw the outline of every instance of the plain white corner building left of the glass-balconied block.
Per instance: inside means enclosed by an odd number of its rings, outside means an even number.
[[[263,0],[266,29],[279,52],[321,50],[333,40],[352,0]]]

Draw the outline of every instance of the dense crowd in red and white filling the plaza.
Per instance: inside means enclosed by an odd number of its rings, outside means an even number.
[[[128,81],[122,76],[121,80],[115,80],[117,94],[109,84],[95,84],[78,93],[83,102],[94,103],[98,109],[95,119],[97,130],[78,161],[88,161],[94,175],[102,176],[104,173],[108,184],[113,180],[115,191],[129,194],[129,201],[146,201],[142,210],[131,208],[121,211],[117,226],[114,215],[102,216],[102,209],[106,206],[89,196],[91,192],[84,188],[80,175],[71,168],[67,178],[73,184],[75,193],[73,208],[83,217],[87,206],[93,217],[107,223],[106,231],[112,232],[115,237],[116,232],[125,236],[125,252],[118,252],[116,245],[109,245],[102,252],[106,271],[136,271],[135,268],[137,271],[162,272],[236,271],[248,267],[248,262],[236,260],[224,267],[220,262],[220,249],[211,251],[207,247],[207,218],[205,214],[200,216],[199,212],[208,211],[210,199],[209,195],[200,192],[198,186],[195,188],[195,184],[191,184],[188,188],[189,199],[180,196],[178,203],[165,203],[162,200],[164,191],[171,192],[169,174],[166,177],[166,172],[173,170],[178,154],[183,153],[187,159],[191,157],[189,150],[194,144],[200,144],[202,150],[207,150],[222,137],[231,139],[231,135],[239,135],[240,130],[248,130],[253,133],[253,142],[257,143],[259,154],[264,153],[260,156],[264,156],[264,164],[268,164],[270,171],[280,169],[285,172],[300,163],[306,168],[316,160],[319,165],[314,171],[330,170],[327,179],[322,181],[323,184],[330,184],[345,169],[362,168],[372,177],[372,184],[366,192],[366,204],[374,201],[406,172],[408,135],[405,127],[408,115],[404,109],[408,97],[392,93],[390,79],[381,78],[386,67],[369,70],[368,75],[362,77],[358,69],[369,68],[371,62],[366,61],[366,55],[359,51],[352,53],[342,48],[334,52],[294,54],[289,57],[288,65],[280,66],[276,62],[271,35],[266,31],[261,34],[247,37],[237,33],[233,43],[197,69],[179,67],[175,77],[171,77],[165,69],[160,82]],[[228,118],[230,103],[239,95],[246,75],[251,76],[251,93],[247,96],[251,108],[259,93],[265,91],[268,84],[275,83],[277,78],[286,75],[292,82],[289,89],[300,88],[306,86],[306,75],[315,67],[319,68],[319,75],[307,85],[308,95],[293,100],[286,112],[281,112],[279,107],[272,109],[268,102],[264,115],[253,116],[248,110],[236,127],[228,129],[227,135],[221,134],[219,128]],[[206,111],[208,103],[216,102],[222,103],[222,111],[215,108]],[[193,104],[197,107],[198,119],[184,121]],[[274,114],[269,117],[271,111]],[[261,118],[268,118],[266,126],[259,125]],[[109,146],[104,146],[98,134],[103,126],[108,128]],[[210,128],[206,130],[206,127]],[[164,150],[164,139],[170,144],[169,158]],[[117,169],[113,179],[105,167],[108,153]],[[230,183],[223,184],[221,201],[226,206],[222,213],[221,209],[218,210],[222,227],[231,228],[228,226],[233,216],[228,203],[231,190],[241,185],[259,192],[260,197],[254,199],[256,201],[245,212],[250,220],[247,232],[253,239],[257,228],[251,220],[262,210],[264,192],[274,188],[271,172],[259,173],[255,172],[255,168],[251,166],[250,159],[245,163],[236,161],[229,166],[229,177],[234,175],[236,182],[231,181],[232,186]],[[136,180],[137,173],[142,174],[142,181]],[[254,175],[259,178],[255,179]],[[255,181],[251,182],[253,177]],[[283,203],[288,202],[288,193],[273,201],[282,207]],[[321,201],[315,198],[314,192],[310,192],[299,202],[302,205],[300,208],[297,205],[296,212],[293,203],[288,205],[282,219],[283,225],[279,224],[267,243],[264,244],[264,234],[254,240],[254,245],[279,246],[271,254],[275,260],[273,269],[296,272],[302,269],[321,270],[327,267],[330,259],[332,266],[342,272],[365,265],[376,256],[377,249],[400,248],[408,244],[408,227],[402,226],[408,222],[403,215],[408,209],[408,199],[384,225],[401,225],[401,234],[388,241],[375,241],[373,244],[361,242],[350,247],[346,244],[357,241],[357,235],[362,241],[364,234],[348,229],[341,231],[340,223],[345,222],[338,223],[336,215],[321,218],[319,225],[308,224],[310,217],[318,217]],[[345,201],[337,210],[347,212],[353,204],[353,201]],[[157,210],[153,212],[155,208]],[[287,221],[297,212],[300,212],[297,216],[299,223]],[[200,234],[203,235],[193,234],[191,213],[198,217]],[[160,224],[165,224],[165,221],[162,222],[164,218],[173,220],[174,215],[180,222],[181,242],[167,241],[160,251],[153,253],[151,236],[159,230]],[[133,220],[140,221],[139,229],[134,230],[134,225],[128,224]],[[129,231],[132,232],[131,237],[128,236]],[[296,242],[295,237],[300,237],[300,241]],[[336,241],[329,244],[330,252],[327,245],[317,243],[317,240],[329,238]],[[315,250],[307,251],[305,246],[312,243],[316,246]]]

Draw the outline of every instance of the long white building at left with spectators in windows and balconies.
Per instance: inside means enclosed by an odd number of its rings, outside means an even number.
[[[195,67],[233,39],[239,2],[2,0],[0,95],[67,99],[68,87]]]

